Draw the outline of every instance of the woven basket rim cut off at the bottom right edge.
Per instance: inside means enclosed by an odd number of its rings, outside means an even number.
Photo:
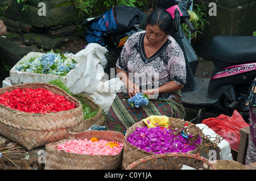
[[[212,163],[216,170],[249,170],[245,165],[242,165],[242,163],[233,160],[217,159],[212,161]]]

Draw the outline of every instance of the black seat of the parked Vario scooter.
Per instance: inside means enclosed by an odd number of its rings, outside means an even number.
[[[216,36],[209,44],[208,54],[216,68],[230,64],[256,62],[256,37]]]

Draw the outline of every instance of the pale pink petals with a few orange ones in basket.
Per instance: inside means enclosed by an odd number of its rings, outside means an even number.
[[[67,151],[68,153],[79,153],[88,155],[116,155],[122,148],[122,143],[117,141],[98,140],[93,137],[90,140],[69,140],[64,144],[59,144],[56,149]]]

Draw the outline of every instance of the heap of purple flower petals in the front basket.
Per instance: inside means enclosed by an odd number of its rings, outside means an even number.
[[[187,153],[195,150],[201,143],[201,138],[193,139],[192,134],[183,137],[177,129],[168,127],[142,127],[136,130],[127,137],[127,141],[138,148],[154,153]]]

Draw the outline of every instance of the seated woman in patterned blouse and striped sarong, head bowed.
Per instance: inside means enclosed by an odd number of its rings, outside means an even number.
[[[134,123],[151,115],[183,119],[181,92],[186,83],[184,54],[173,37],[172,16],[156,9],[146,20],[146,31],[127,39],[116,63],[117,75],[125,84],[106,117],[106,129],[125,133]],[[147,106],[132,107],[128,99],[147,94]]]

